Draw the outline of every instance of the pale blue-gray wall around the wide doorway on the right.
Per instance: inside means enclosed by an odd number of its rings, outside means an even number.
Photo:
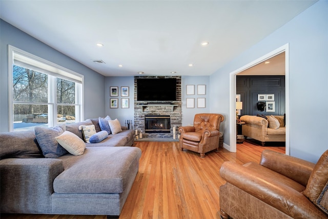
[[[285,45],[290,46],[290,154],[317,162],[328,149],[328,2],[319,1],[211,75],[211,112],[226,116],[229,142],[230,73]],[[213,100],[213,98],[212,98]]]

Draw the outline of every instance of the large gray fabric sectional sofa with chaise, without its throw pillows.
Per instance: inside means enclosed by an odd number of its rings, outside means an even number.
[[[80,125],[66,131],[81,139]],[[82,155],[45,158],[34,130],[0,133],[1,213],[120,214],[139,168],[141,150],[133,130],[122,128],[100,143],[86,143]]]

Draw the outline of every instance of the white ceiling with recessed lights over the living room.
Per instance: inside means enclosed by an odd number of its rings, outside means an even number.
[[[105,76],[211,75],[315,2],[1,0],[0,16]]]

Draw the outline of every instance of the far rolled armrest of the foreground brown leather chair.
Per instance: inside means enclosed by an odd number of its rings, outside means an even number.
[[[289,177],[305,187],[315,166],[309,161],[270,150],[262,152],[260,165]]]

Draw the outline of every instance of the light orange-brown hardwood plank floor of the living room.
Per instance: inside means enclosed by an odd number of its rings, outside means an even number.
[[[220,218],[219,174],[224,161],[256,162],[264,149],[285,153],[285,147],[261,147],[244,142],[237,152],[220,148],[204,158],[179,150],[178,142],[135,142],[142,150],[139,172],[119,216],[126,218]],[[103,219],[106,215],[2,214],[1,218]]]

